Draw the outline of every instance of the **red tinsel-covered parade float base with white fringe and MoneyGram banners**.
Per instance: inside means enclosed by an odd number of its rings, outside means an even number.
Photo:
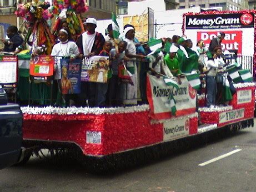
[[[7,60],[2,59],[0,64],[7,66]],[[14,66],[15,62],[10,60]],[[41,65],[47,62],[37,65],[38,70],[33,70],[37,74],[33,75],[48,78],[47,74],[39,73]],[[14,72],[15,69],[8,70]],[[52,154],[67,151],[94,171],[130,168],[179,151],[180,146],[189,148],[192,146],[189,142],[205,142],[219,133],[228,135],[253,127],[254,83],[252,78],[243,78],[242,72],[238,71],[238,75],[240,81],[234,84],[236,93],[232,100],[215,108],[204,107],[205,95],[197,95],[193,79],[184,78],[178,85],[173,79],[151,74],[147,75],[148,105],[21,107],[23,145],[27,148],[23,163],[31,154],[49,149]],[[3,78],[0,80],[1,84],[9,83]],[[12,81],[16,83],[17,78]]]

